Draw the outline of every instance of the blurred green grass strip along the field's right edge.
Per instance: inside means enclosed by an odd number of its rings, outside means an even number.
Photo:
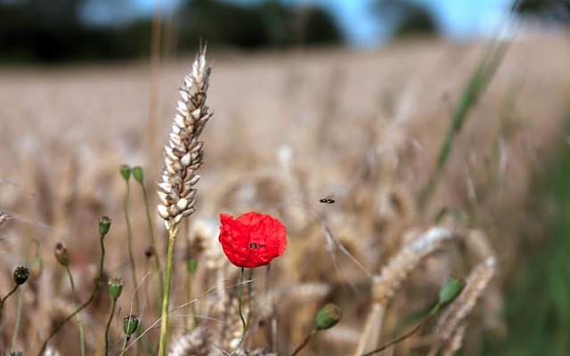
[[[566,122],[570,124],[570,115]],[[558,158],[542,174],[531,197],[534,214],[550,221],[537,242],[528,243],[525,261],[509,284],[506,319],[509,336],[501,343],[485,338],[482,354],[567,355],[570,354],[570,150],[561,147]],[[548,216],[545,214],[546,206]]]

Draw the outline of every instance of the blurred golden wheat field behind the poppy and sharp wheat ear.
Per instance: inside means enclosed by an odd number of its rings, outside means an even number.
[[[211,46],[208,106],[214,115],[200,137],[205,163],[197,211],[183,222],[176,242],[171,304],[199,300],[172,313],[170,354],[231,351],[241,331],[238,269],[216,243],[217,218],[252,210],[278,216],[289,247],[269,274],[253,272],[252,324],[240,354],[291,354],[328,302],[339,306],[342,319],[301,354],[370,351],[391,340],[406,316],[425,308],[450,275],[468,281],[458,300],[383,354],[452,354],[461,348],[461,354],[475,355],[482,333],[505,340],[504,287],[525,263],[520,246],[548,239],[533,218],[532,184],[567,139],[569,40],[529,36],[509,44],[453,139],[449,164],[426,206],[419,206],[420,196],[486,44],[418,39],[369,52],[280,53]],[[0,210],[8,216],[0,225],[0,295],[12,288],[16,266],[30,266],[38,256],[43,263],[4,303],[0,351],[13,346],[36,354],[74,311],[69,280],[53,256],[56,243],[69,250],[78,300],[88,298],[99,258],[97,221],[107,215],[112,227],[105,238],[105,284],[111,277],[125,280],[110,324],[110,354],[120,353],[121,320],[129,313],[149,329],[126,353],[155,354],[158,272],[145,256],[150,234],[141,190],[130,182],[136,305],[119,167],[143,167],[156,253],[164,259],[167,231],[155,213],[156,183],[177,88],[192,61],[163,61],[154,86],[146,60],[0,68]],[[335,202],[321,204],[321,198]],[[433,230],[439,228],[449,233],[441,241]],[[430,231],[436,239],[412,251]],[[191,275],[189,256],[198,260]],[[387,271],[398,263],[397,273]],[[87,354],[104,351],[109,313],[104,287],[81,312]],[[460,313],[467,321],[457,319]],[[452,331],[446,334],[446,328]],[[50,340],[52,352],[79,354],[78,337],[77,321],[69,320]]]

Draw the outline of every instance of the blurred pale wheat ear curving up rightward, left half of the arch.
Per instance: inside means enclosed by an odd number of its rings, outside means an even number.
[[[451,229],[432,227],[403,246],[400,252],[382,268],[379,275],[373,278],[371,312],[369,312],[354,355],[361,355],[376,346],[387,304],[395,292],[424,258],[441,247],[444,241],[455,236],[457,236],[455,231]]]

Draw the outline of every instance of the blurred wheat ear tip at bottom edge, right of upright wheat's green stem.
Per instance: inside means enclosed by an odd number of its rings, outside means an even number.
[[[168,356],[211,356],[216,355],[211,334],[202,326],[172,339]]]

